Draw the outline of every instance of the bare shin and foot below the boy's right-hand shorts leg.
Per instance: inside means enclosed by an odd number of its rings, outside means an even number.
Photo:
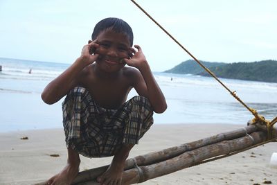
[[[122,144],[121,148],[114,155],[109,168],[97,178],[100,184],[121,184],[125,161],[129,156],[129,151],[133,147],[133,144]]]

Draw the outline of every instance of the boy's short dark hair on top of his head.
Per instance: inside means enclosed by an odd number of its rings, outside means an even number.
[[[93,29],[91,39],[92,40],[96,39],[96,37],[103,30],[107,30],[107,28],[111,28],[111,30],[114,30],[116,33],[125,33],[127,37],[129,37],[129,42],[131,46],[133,45],[134,35],[133,35],[132,28],[129,26],[129,24],[127,24],[127,22],[115,17],[109,17],[99,21],[98,24],[96,24],[96,26]]]

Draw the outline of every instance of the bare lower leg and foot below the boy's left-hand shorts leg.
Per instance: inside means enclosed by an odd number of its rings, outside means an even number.
[[[73,179],[75,179],[76,175],[79,172],[80,157],[78,152],[75,152],[71,148],[68,148],[67,152],[68,152],[68,159],[67,159],[66,166],[64,167],[64,169],[62,169],[62,171],[60,171],[60,173],[58,173],[51,179],[48,179],[47,184],[70,185],[71,182],[73,182]]]

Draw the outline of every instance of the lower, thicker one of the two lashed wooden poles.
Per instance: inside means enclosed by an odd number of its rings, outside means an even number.
[[[166,161],[161,161],[157,164],[139,166],[140,170],[139,168],[125,170],[123,173],[123,184],[136,184],[145,182],[155,177],[161,177],[163,175],[188,168],[194,164],[204,161],[205,159],[211,159],[212,157],[226,155],[237,150],[248,148],[249,146],[253,146],[256,143],[265,141],[267,139],[267,134],[265,132],[253,132],[251,137],[243,136],[238,139],[221,141],[219,143],[203,146],[202,148],[184,152],[177,157],[173,157],[172,159],[168,159]],[[96,185],[98,183],[95,180],[78,183],[78,185],[88,184]]]

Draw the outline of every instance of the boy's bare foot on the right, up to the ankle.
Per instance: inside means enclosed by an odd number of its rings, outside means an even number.
[[[111,161],[111,165],[105,171],[105,173],[103,173],[100,177],[97,178],[97,182],[99,182],[101,185],[121,184],[124,165],[125,159],[116,160],[114,158],[113,161]]]

